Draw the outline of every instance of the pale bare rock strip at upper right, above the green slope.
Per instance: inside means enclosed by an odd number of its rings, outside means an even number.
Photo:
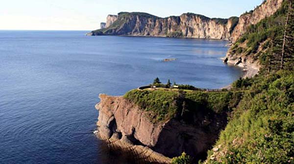
[[[245,13],[240,16],[239,23],[235,27],[231,40],[237,41],[242,34],[245,33],[246,28],[251,24],[257,24],[259,21],[273,15],[281,6],[283,0],[266,0],[260,6],[253,10],[253,12]]]

